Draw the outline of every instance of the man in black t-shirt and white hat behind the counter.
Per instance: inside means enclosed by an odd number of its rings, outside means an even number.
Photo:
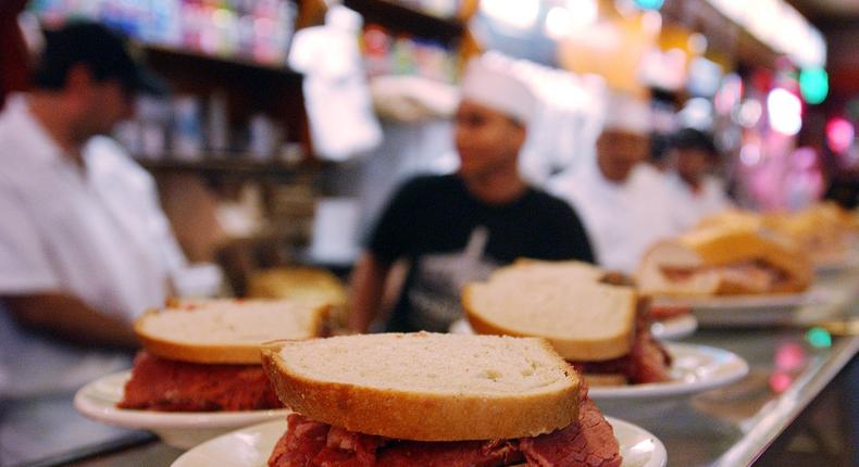
[[[353,330],[366,331],[376,317],[390,266],[401,258],[410,265],[391,331],[446,331],[462,315],[462,286],[518,257],[594,261],[572,209],[519,173],[535,105],[498,65],[469,64],[455,122],[460,168],[412,179],[387,205],[353,275]]]

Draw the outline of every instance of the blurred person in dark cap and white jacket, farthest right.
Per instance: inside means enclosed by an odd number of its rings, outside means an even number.
[[[732,207],[722,182],[711,175],[719,164],[719,152],[710,136],[694,128],[681,129],[671,139],[668,159],[668,187],[680,230]]]

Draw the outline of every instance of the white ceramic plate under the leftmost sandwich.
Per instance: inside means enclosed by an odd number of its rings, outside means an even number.
[[[237,428],[275,418],[289,411],[247,412],[154,412],[117,408],[130,371],[108,375],[80,388],[75,394],[75,408],[94,420],[123,428],[154,431],[171,446],[189,449],[206,440]]]

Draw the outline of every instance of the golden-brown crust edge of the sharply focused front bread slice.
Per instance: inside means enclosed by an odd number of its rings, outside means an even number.
[[[570,384],[559,390],[455,396],[310,380],[284,365],[281,351],[288,344],[262,349],[262,365],[281,401],[313,420],[351,431],[413,441],[497,440],[551,432],[578,416],[582,382],[560,357]],[[552,352],[548,342],[544,345]]]

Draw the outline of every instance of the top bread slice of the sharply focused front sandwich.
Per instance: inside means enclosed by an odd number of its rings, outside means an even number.
[[[576,420],[581,380],[541,339],[343,336],[263,348],[285,406],[365,434],[413,441],[533,437]]]

